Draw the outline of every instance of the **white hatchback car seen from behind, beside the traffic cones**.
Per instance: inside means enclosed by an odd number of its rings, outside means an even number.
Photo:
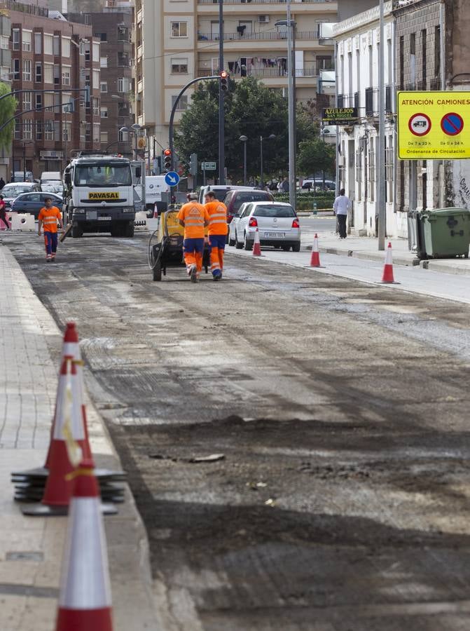
[[[261,245],[282,247],[288,251],[300,252],[300,223],[290,204],[282,202],[244,203],[240,208],[240,216],[233,218],[233,228],[229,238],[238,250],[244,247],[251,250],[256,230]],[[230,226],[232,225],[230,224]]]

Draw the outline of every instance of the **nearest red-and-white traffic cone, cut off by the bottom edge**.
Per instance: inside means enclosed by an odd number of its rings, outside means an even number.
[[[93,466],[83,461],[73,483],[55,631],[112,631],[108,554]]]

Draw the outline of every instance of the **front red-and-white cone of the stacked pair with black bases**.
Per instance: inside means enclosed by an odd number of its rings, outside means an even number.
[[[42,499],[48,506],[69,506],[71,481],[67,476],[83,457],[85,430],[79,394],[76,365],[71,355],[67,355],[60,370],[49,475]]]

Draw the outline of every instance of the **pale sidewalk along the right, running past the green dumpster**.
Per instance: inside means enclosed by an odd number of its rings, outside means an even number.
[[[310,217],[305,217],[304,221],[308,222],[309,219]],[[312,250],[313,236],[310,233],[303,234],[302,242],[303,245],[306,245],[307,250]],[[420,261],[420,259],[417,259],[415,252],[408,250],[408,239],[387,238],[385,240],[386,247],[389,242],[392,243],[395,265],[419,265],[423,269],[448,274],[470,274],[470,259],[429,259],[428,261]],[[377,239],[372,237],[359,237],[351,234],[346,239],[340,240],[338,235],[332,231],[319,231],[318,245],[320,252],[326,252],[327,254],[378,262],[383,262],[385,259],[385,253],[378,250]]]

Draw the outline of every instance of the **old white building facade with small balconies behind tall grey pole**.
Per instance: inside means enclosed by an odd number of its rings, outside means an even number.
[[[378,186],[386,182],[388,236],[406,236],[406,214],[397,212],[395,24],[392,2],[385,3],[385,173],[378,172],[379,7],[333,27],[337,42],[338,107],[355,107],[356,125],[339,127],[339,187],[352,201],[350,227],[364,236],[378,230]]]

